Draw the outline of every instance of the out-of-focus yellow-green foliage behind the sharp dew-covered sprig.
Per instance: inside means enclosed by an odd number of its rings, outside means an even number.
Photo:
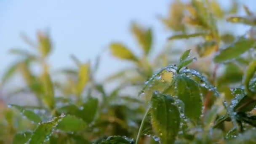
[[[246,16],[237,15],[242,7]],[[136,138],[152,92],[163,91],[168,87],[172,72],[163,71],[160,79],[142,92],[143,96],[137,96],[139,90],[148,83],[157,69],[177,64],[179,56],[186,49],[191,49],[192,56],[197,57],[197,61],[189,64],[188,67],[197,69],[207,77],[224,96],[221,99],[230,103],[234,98],[230,88],[241,84],[244,69],[255,59],[256,53],[254,49],[249,48],[245,49],[245,53],[241,56],[241,52],[233,57],[228,56],[229,51],[224,54],[225,56],[219,55],[219,57],[216,53],[218,54],[221,48],[229,47],[237,37],[235,26],[229,30],[228,23],[255,25],[253,12],[236,0],[230,0],[229,7],[225,9],[217,0],[205,2],[173,0],[169,5],[168,13],[157,19],[171,34],[160,53],[152,56],[154,31],[133,21],[130,31],[138,44],[138,49],[142,52],[141,55],[133,52],[125,41],[120,42],[118,39],[112,41],[109,43],[109,53],[117,60],[130,61],[132,67],[123,69],[100,82],[95,80],[99,64],[104,60],[100,55],[93,64],[91,61],[80,61],[72,55],[73,67],[54,69],[49,67],[50,61],[48,61],[54,37],[51,38],[48,32],[42,31],[37,32],[36,41],[26,37],[25,43],[31,47],[31,50],[19,48],[10,50],[17,60],[4,73],[0,90],[4,90],[13,76],[19,74],[24,85],[13,87],[11,91],[5,93],[5,97],[22,94],[24,101],[27,99],[34,101],[29,105],[21,106],[16,105],[19,104],[17,101],[15,104],[7,104],[0,95],[0,143],[18,144],[29,139],[32,141],[33,138],[30,136],[35,137],[32,131],[42,122],[45,122],[47,128],[57,129],[54,132],[45,131],[45,137],[49,137],[46,140],[38,140],[46,143],[84,144],[114,135]],[[251,27],[246,36],[255,40],[255,28]],[[250,42],[247,44],[252,45]],[[226,59],[226,56],[229,58]],[[232,61],[226,61],[228,59]],[[217,64],[213,60],[226,62]],[[34,72],[34,67],[39,68],[40,72]],[[117,86],[107,89],[112,83]],[[212,105],[217,105],[219,108],[216,117],[223,115],[225,110],[221,107],[221,102],[218,103],[213,93],[206,88],[202,91],[204,114],[209,115]],[[62,113],[66,117],[61,117]],[[54,120],[61,121],[58,125],[47,124],[51,117],[57,117],[53,119],[54,123]],[[154,136],[149,117],[147,119],[140,142],[158,143],[159,138]],[[208,141],[223,142],[222,134],[219,133],[227,133],[230,125],[230,122],[225,122],[225,125],[221,125],[222,131],[219,129],[214,131],[214,134],[207,138]]]

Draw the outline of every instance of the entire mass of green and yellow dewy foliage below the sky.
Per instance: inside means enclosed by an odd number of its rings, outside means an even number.
[[[255,143],[256,22],[246,6],[246,16],[224,19],[227,14],[236,13],[237,8],[235,0],[227,11],[216,0],[174,0],[168,17],[160,17],[173,33],[168,41],[198,40],[194,48],[182,53],[175,62],[168,59],[173,53],[166,50],[150,61],[152,29],[132,23],[131,32],[143,54],[136,56],[126,45],[111,43],[112,55],[131,61],[134,67],[102,83],[93,75],[99,58],[92,67],[89,61],[83,63],[71,56],[76,68],[52,73],[47,63],[53,49],[50,37],[39,32],[37,43],[26,38],[35,52],[12,49],[11,53],[20,59],[5,72],[2,85],[19,72],[25,87],[7,95],[33,95],[37,102],[29,106],[9,104],[4,108],[0,115],[0,142]],[[249,25],[250,30],[242,36],[223,32],[218,24],[225,21]],[[200,66],[200,61],[207,64],[208,71]],[[35,64],[41,68],[39,74],[32,69]],[[160,67],[163,68],[154,73]],[[56,74],[65,78],[53,80]],[[105,91],[112,81],[118,87]],[[127,88],[132,91],[127,92]],[[132,96],[140,88],[139,96]]]

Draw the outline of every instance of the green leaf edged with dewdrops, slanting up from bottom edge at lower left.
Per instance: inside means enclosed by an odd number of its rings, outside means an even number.
[[[53,120],[40,123],[35,131],[32,133],[28,143],[29,144],[42,144],[45,141],[48,141],[50,136],[53,134],[53,131],[56,130],[56,126],[63,119],[63,115],[60,117],[55,117]]]

